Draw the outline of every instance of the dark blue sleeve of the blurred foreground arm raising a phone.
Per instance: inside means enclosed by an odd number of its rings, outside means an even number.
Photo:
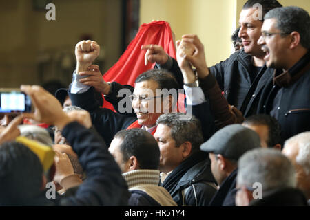
[[[39,206],[127,206],[130,192],[121,175],[121,170],[105,142],[77,122],[67,124],[62,131],[79,157],[87,181],[66,197],[41,199]],[[38,200],[39,201],[39,200]]]

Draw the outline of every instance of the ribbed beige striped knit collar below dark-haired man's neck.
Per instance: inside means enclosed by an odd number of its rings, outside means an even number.
[[[128,188],[142,184],[158,186],[159,170],[132,170],[123,173],[123,178],[127,182]]]

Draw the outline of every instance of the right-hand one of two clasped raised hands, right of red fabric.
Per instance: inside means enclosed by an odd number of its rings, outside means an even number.
[[[194,45],[194,54],[186,54],[185,58],[187,59],[187,61],[192,63],[194,67],[196,67],[198,78],[205,78],[209,75],[209,69],[205,61],[205,49],[203,43],[200,42],[198,36],[192,34],[183,35],[182,40],[187,43],[192,43]]]

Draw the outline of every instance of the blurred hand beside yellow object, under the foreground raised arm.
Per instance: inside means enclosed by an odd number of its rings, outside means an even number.
[[[66,153],[55,151],[54,164],[56,166],[56,172],[53,181],[57,184],[60,184],[63,178],[74,174],[73,166]]]

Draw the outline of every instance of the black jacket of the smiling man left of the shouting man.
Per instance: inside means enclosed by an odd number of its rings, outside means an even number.
[[[178,65],[176,65],[177,61],[173,60],[173,62],[174,65],[168,70],[180,78],[179,75],[182,73],[180,72]],[[231,54],[231,56],[225,61],[221,61],[220,63],[209,67],[209,71],[215,76],[228,103],[239,109],[245,117],[256,113],[262,89],[267,80],[272,78],[273,73],[273,69],[264,66],[252,83],[250,77],[251,64],[252,56],[245,53],[242,49]],[[240,81],[241,76],[246,80]],[[246,95],[238,92],[240,83],[246,83],[244,86],[249,88]],[[238,99],[243,100],[242,104],[236,103],[236,100]]]

